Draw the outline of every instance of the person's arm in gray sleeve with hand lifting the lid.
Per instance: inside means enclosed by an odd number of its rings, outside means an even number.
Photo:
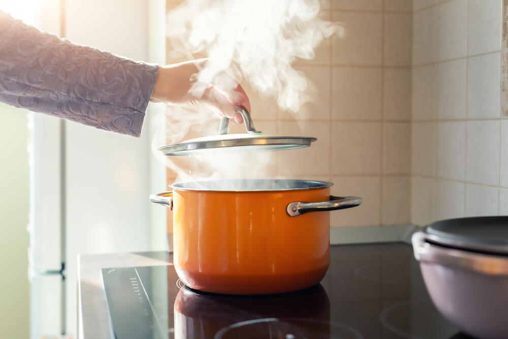
[[[205,59],[158,67],[40,32],[0,11],[0,102],[139,136],[148,102],[204,104],[238,123],[250,110],[242,87],[225,72],[214,84],[194,75]],[[205,88],[195,91],[196,87]]]

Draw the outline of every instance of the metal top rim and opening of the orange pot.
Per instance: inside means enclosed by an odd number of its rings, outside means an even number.
[[[266,187],[256,188],[257,184],[258,185],[265,184]],[[232,179],[232,180],[221,179],[221,180],[183,181],[172,183],[169,186],[177,191],[279,192],[279,191],[304,191],[304,190],[324,189],[333,186],[333,183],[329,181],[299,180],[299,179]],[[225,187],[226,189],[217,188],[217,186],[222,186]],[[228,189],[228,187],[230,187],[230,189]]]

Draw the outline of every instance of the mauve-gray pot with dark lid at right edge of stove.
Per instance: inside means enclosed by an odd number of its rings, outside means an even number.
[[[505,217],[493,218],[497,218],[498,224],[506,221],[500,219]],[[447,234],[442,227],[430,225],[425,232],[413,235],[412,245],[429,294],[442,315],[475,337],[505,339],[508,338],[508,256],[503,252],[508,251],[508,246],[504,245],[504,239],[496,239],[492,225],[485,229],[477,225],[482,236],[475,237],[471,227],[482,220],[486,219],[464,219],[468,226],[458,232],[462,234]],[[447,226],[447,222],[453,222],[456,227],[461,220],[440,222],[438,226],[442,223]],[[503,225],[502,232],[506,227],[508,224]],[[490,238],[490,244],[486,238]]]

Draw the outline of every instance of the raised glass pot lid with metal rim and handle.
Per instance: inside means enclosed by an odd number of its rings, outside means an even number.
[[[280,136],[263,134],[256,131],[249,112],[236,107],[235,111],[242,114],[247,133],[228,134],[229,118],[220,120],[217,135],[189,139],[184,142],[158,147],[166,156],[191,156],[216,151],[273,151],[310,146],[316,141],[314,137]]]

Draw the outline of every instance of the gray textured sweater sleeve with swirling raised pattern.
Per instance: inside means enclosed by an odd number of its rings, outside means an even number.
[[[157,66],[73,44],[0,11],[0,102],[139,136]]]

